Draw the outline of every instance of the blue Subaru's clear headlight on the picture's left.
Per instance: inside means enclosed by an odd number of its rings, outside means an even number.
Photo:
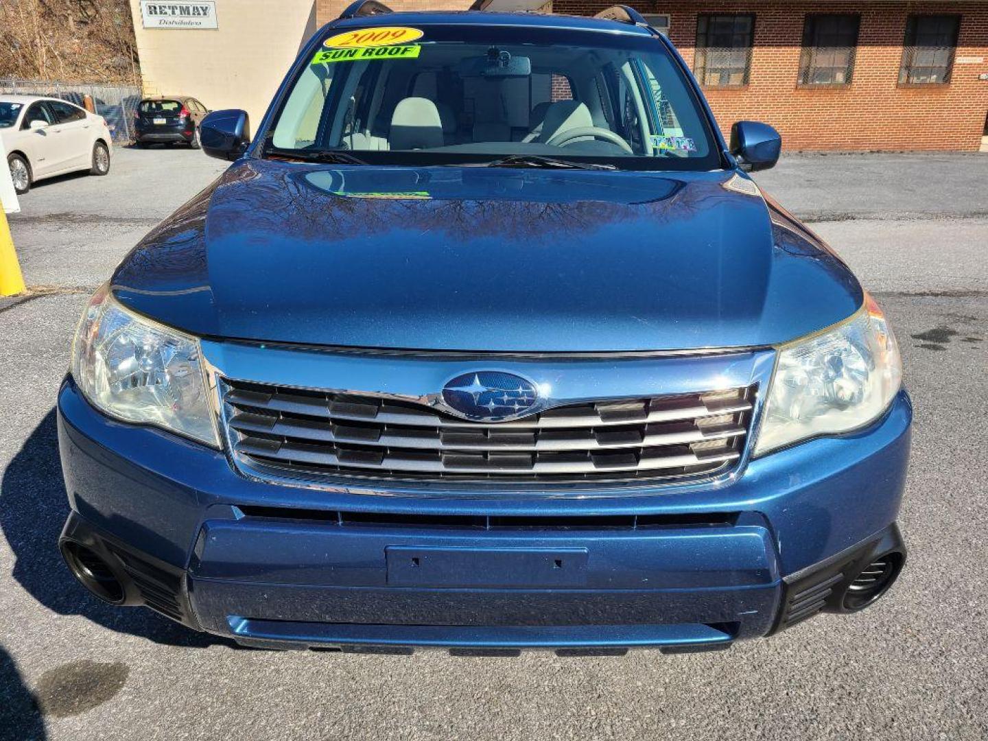
[[[199,341],[124,309],[106,286],[82,313],[72,376],[97,409],[219,447]]]

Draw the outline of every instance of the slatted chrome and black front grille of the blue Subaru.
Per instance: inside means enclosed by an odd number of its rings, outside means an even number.
[[[269,472],[385,479],[602,480],[708,474],[740,458],[749,388],[570,404],[469,422],[391,398],[223,381],[235,457]]]

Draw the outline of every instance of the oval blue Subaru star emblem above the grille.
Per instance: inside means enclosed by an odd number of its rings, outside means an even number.
[[[503,371],[470,371],[447,381],[443,402],[457,416],[475,422],[504,422],[535,412],[538,387]]]

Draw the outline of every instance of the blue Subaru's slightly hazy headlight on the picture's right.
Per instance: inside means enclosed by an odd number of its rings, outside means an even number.
[[[864,306],[846,321],[779,348],[754,454],[864,427],[901,384],[895,336],[865,294]]]

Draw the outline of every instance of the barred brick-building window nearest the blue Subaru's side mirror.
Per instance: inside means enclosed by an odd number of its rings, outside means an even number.
[[[695,72],[704,87],[739,87],[748,84],[755,16],[697,18]]]

